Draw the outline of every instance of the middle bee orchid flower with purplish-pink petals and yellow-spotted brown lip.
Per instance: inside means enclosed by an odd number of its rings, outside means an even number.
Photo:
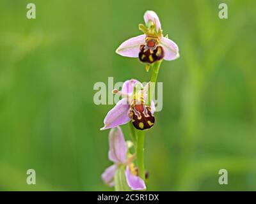
[[[104,119],[104,127],[101,130],[115,128],[130,120],[132,120],[132,124],[136,129],[152,128],[155,122],[153,115],[155,105],[154,101],[151,102],[151,106],[145,105],[148,86],[149,83],[143,87],[140,82],[131,79],[124,82],[122,91],[114,89],[113,93],[119,94],[122,99],[116,103],[114,108],[109,110]]]

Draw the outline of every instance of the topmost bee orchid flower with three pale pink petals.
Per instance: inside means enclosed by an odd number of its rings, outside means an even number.
[[[140,24],[144,34],[124,41],[116,53],[125,57],[139,57],[141,62],[152,64],[161,59],[172,61],[179,57],[179,47],[168,37],[164,37],[161,23],[154,11],[146,11],[145,25]]]

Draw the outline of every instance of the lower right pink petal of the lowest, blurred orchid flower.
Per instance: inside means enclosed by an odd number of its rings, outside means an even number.
[[[126,175],[127,184],[129,187],[131,187],[132,190],[138,191],[138,190],[146,189],[146,185],[143,179],[141,179],[140,177],[137,177],[136,175],[133,175],[130,171],[129,166],[126,167],[125,175]]]

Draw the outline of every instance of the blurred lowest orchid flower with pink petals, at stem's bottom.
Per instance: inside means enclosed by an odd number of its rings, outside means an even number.
[[[118,170],[125,168],[126,182],[132,190],[144,190],[146,189],[143,179],[138,177],[138,171],[136,170],[132,160],[134,156],[128,156],[127,145],[124,140],[124,135],[120,127],[111,129],[109,132],[109,152],[108,157],[110,161],[113,161],[112,166],[109,166],[104,173],[102,173],[102,180],[109,186],[114,186],[117,181],[114,182],[114,177]],[[119,178],[117,178],[119,179]],[[121,181],[122,182],[122,181]],[[122,186],[127,185],[126,182]],[[124,187],[123,187],[124,188]]]

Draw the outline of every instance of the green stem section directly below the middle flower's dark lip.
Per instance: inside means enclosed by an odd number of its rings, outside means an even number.
[[[145,132],[137,131],[138,141],[137,141],[137,161],[138,161],[138,171],[139,177],[145,180],[145,169],[144,169],[144,139]]]

